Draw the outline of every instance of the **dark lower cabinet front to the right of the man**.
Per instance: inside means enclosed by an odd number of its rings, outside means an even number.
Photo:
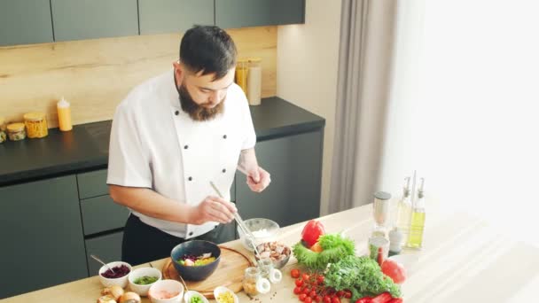
[[[287,226],[319,216],[324,128],[256,144],[256,158],[271,175],[266,190],[255,193],[237,173],[236,204],[244,219],[268,218]]]

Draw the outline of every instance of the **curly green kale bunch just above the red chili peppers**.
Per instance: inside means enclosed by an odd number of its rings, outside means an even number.
[[[384,275],[375,260],[349,255],[333,263],[325,274],[324,283],[336,290],[352,291],[352,301],[389,292],[393,298],[401,297],[397,284]]]

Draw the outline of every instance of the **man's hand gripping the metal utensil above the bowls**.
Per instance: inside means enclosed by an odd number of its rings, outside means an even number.
[[[234,204],[223,198],[208,196],[199,206],[191,208],[191,224],[204,224],[207,221],[229,223],[234,220],[234,213],[238,209]]]

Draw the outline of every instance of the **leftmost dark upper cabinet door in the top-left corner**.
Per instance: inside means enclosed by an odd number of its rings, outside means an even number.
[[[0,1],[0,46],[52,41],[49,0]]]

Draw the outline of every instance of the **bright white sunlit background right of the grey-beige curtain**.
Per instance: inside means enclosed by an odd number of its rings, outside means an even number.
[[[424,1],[401,15],[381,187],[417,168],[432,198],[539,244],[539,4]]]

